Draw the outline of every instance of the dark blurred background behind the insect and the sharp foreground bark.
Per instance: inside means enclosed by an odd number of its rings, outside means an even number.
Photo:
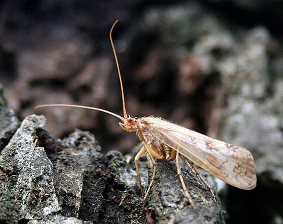
[[[221,190],[228,224],[283,224],[282,0],[2,0],[0,83],[23,119],[64,137],[95,134],[104,152],[139,142],[122,115],[113,32],[131,116],[160,116],[249,149],[258,186]],[[220,187],[220,186],[219,186]],[[221,188],[221,187],[220,187]]]

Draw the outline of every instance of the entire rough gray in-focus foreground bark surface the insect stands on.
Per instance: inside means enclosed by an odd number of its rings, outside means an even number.
[[[100,146],[89,132],[76,130],[62,141],[55,140],[45,130],[44,116],[25,118],[0,155],[0,221],[224,222],[219,203],[213,201],[211,192],[187,169],[184,177],[197,210],[185,197],[173,162],[166,161],[158,161],[153,189],[143,204],[133,160],[127,163],[119,152],[103,155],[99,151]],[[146,184],[144,159],[141,174]]]

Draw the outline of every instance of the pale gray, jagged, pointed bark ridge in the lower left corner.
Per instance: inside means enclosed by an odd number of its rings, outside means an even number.
[[[45,128],[44,116],[30,115],[21,123],[0,155],[0,220],[42,219],[61,208],[55,194],[53,165],[36,132]]]

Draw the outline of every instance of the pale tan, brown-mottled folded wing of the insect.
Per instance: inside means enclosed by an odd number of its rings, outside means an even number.
[[[240,189],[256,186],[255,164],[245,148],[222,142],[155,117],[142,118],[144,126],[159,141],[168,145],[200,168]]]

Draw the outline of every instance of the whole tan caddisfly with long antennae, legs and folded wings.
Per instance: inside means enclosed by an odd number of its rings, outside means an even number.
[[[181,173],[180,157],[182,157],[185,163],[210,189],[214,200],[215,196],[213,191],[210,185],[199,173],[198,168],[202,168],[224,182],[240,189],[251,190],[255,188],[257,178],[254,159],[247,149],[210,138],[177,124],[173,124],[162,118],[153,116],[135,118],[128,115],[126,111],[123,82],[118,57],[112,40],[112,31],[117,22],[118,20],[113,23],[109,37],[120,81],[124,116],[122,117],[116,113],[100,108],[78,105],[50,104],[41,105],[36,108],[55,106],[75,107],[105,112],[119,118],[121,120],[121,122],[119,122],[120,127],[125,131],[135,132],[142,143],[141,150],[138,152],[134,160],[142,195],[144,195],[144,191],[141,185],[141,173],[138,161],[143,154],[146,154],[147,160],[153,168],[152,179],[145,195],[143,196],[143,200],[147,198],[154,183],[154,177],[156,174],[156,162],[154,158],[169,161],[176,160],[177,175],[180,178],[186,197],[195,209],[195,203],[187,190]]]

